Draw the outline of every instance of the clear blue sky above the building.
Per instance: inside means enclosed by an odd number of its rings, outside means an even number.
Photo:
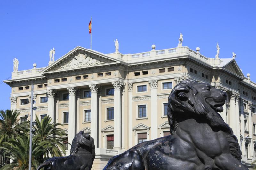
[[[49,50],[60,58],[76,46],[90,48],[88,24],[92,17],[92,49],[123,54],[183,46],[206,57],[231,58],[244,75],[256,81],[256,1],[0,1],[0,80],[11,76],[13,58],[19,70],[47,66]],[[2,83],[0,109],[10,108],[11,88]]]

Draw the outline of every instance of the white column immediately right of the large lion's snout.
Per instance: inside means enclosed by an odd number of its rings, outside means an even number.
[[[236,135],[237,139],[240,139],[240,134],[237,134],[236,128],[238,128],[239,125],[236,123],[236,103],[235,103],[235,92],[232,92],[230,97],[230,108],[229,108],[229,119],[230,119],[230,127],[232,128],[234,135]],[[239,140],[238,140],[239,141]]]

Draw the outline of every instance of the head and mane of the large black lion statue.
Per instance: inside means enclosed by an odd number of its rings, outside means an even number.
[[[169,96],[168,120],[171,134],[175,133],[179,118],[198,118],[205,120],[211,127],[229,131],[230,128],[218,114],[223,111],[226,96],[225,92],[210,84],[198,83],[193,79],[181,81]]]

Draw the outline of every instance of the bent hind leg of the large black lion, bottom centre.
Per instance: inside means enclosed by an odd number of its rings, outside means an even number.
[[[141,153],[130,149],[111,158],[103,170],[145,170]]]

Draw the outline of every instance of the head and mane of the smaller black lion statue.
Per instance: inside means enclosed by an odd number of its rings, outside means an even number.
[[[85,148],[89,152],[95,152],[93,138],[83,131],[78,132],[74,137],[71,144],[70,155],[76,155],[80,147]]]

